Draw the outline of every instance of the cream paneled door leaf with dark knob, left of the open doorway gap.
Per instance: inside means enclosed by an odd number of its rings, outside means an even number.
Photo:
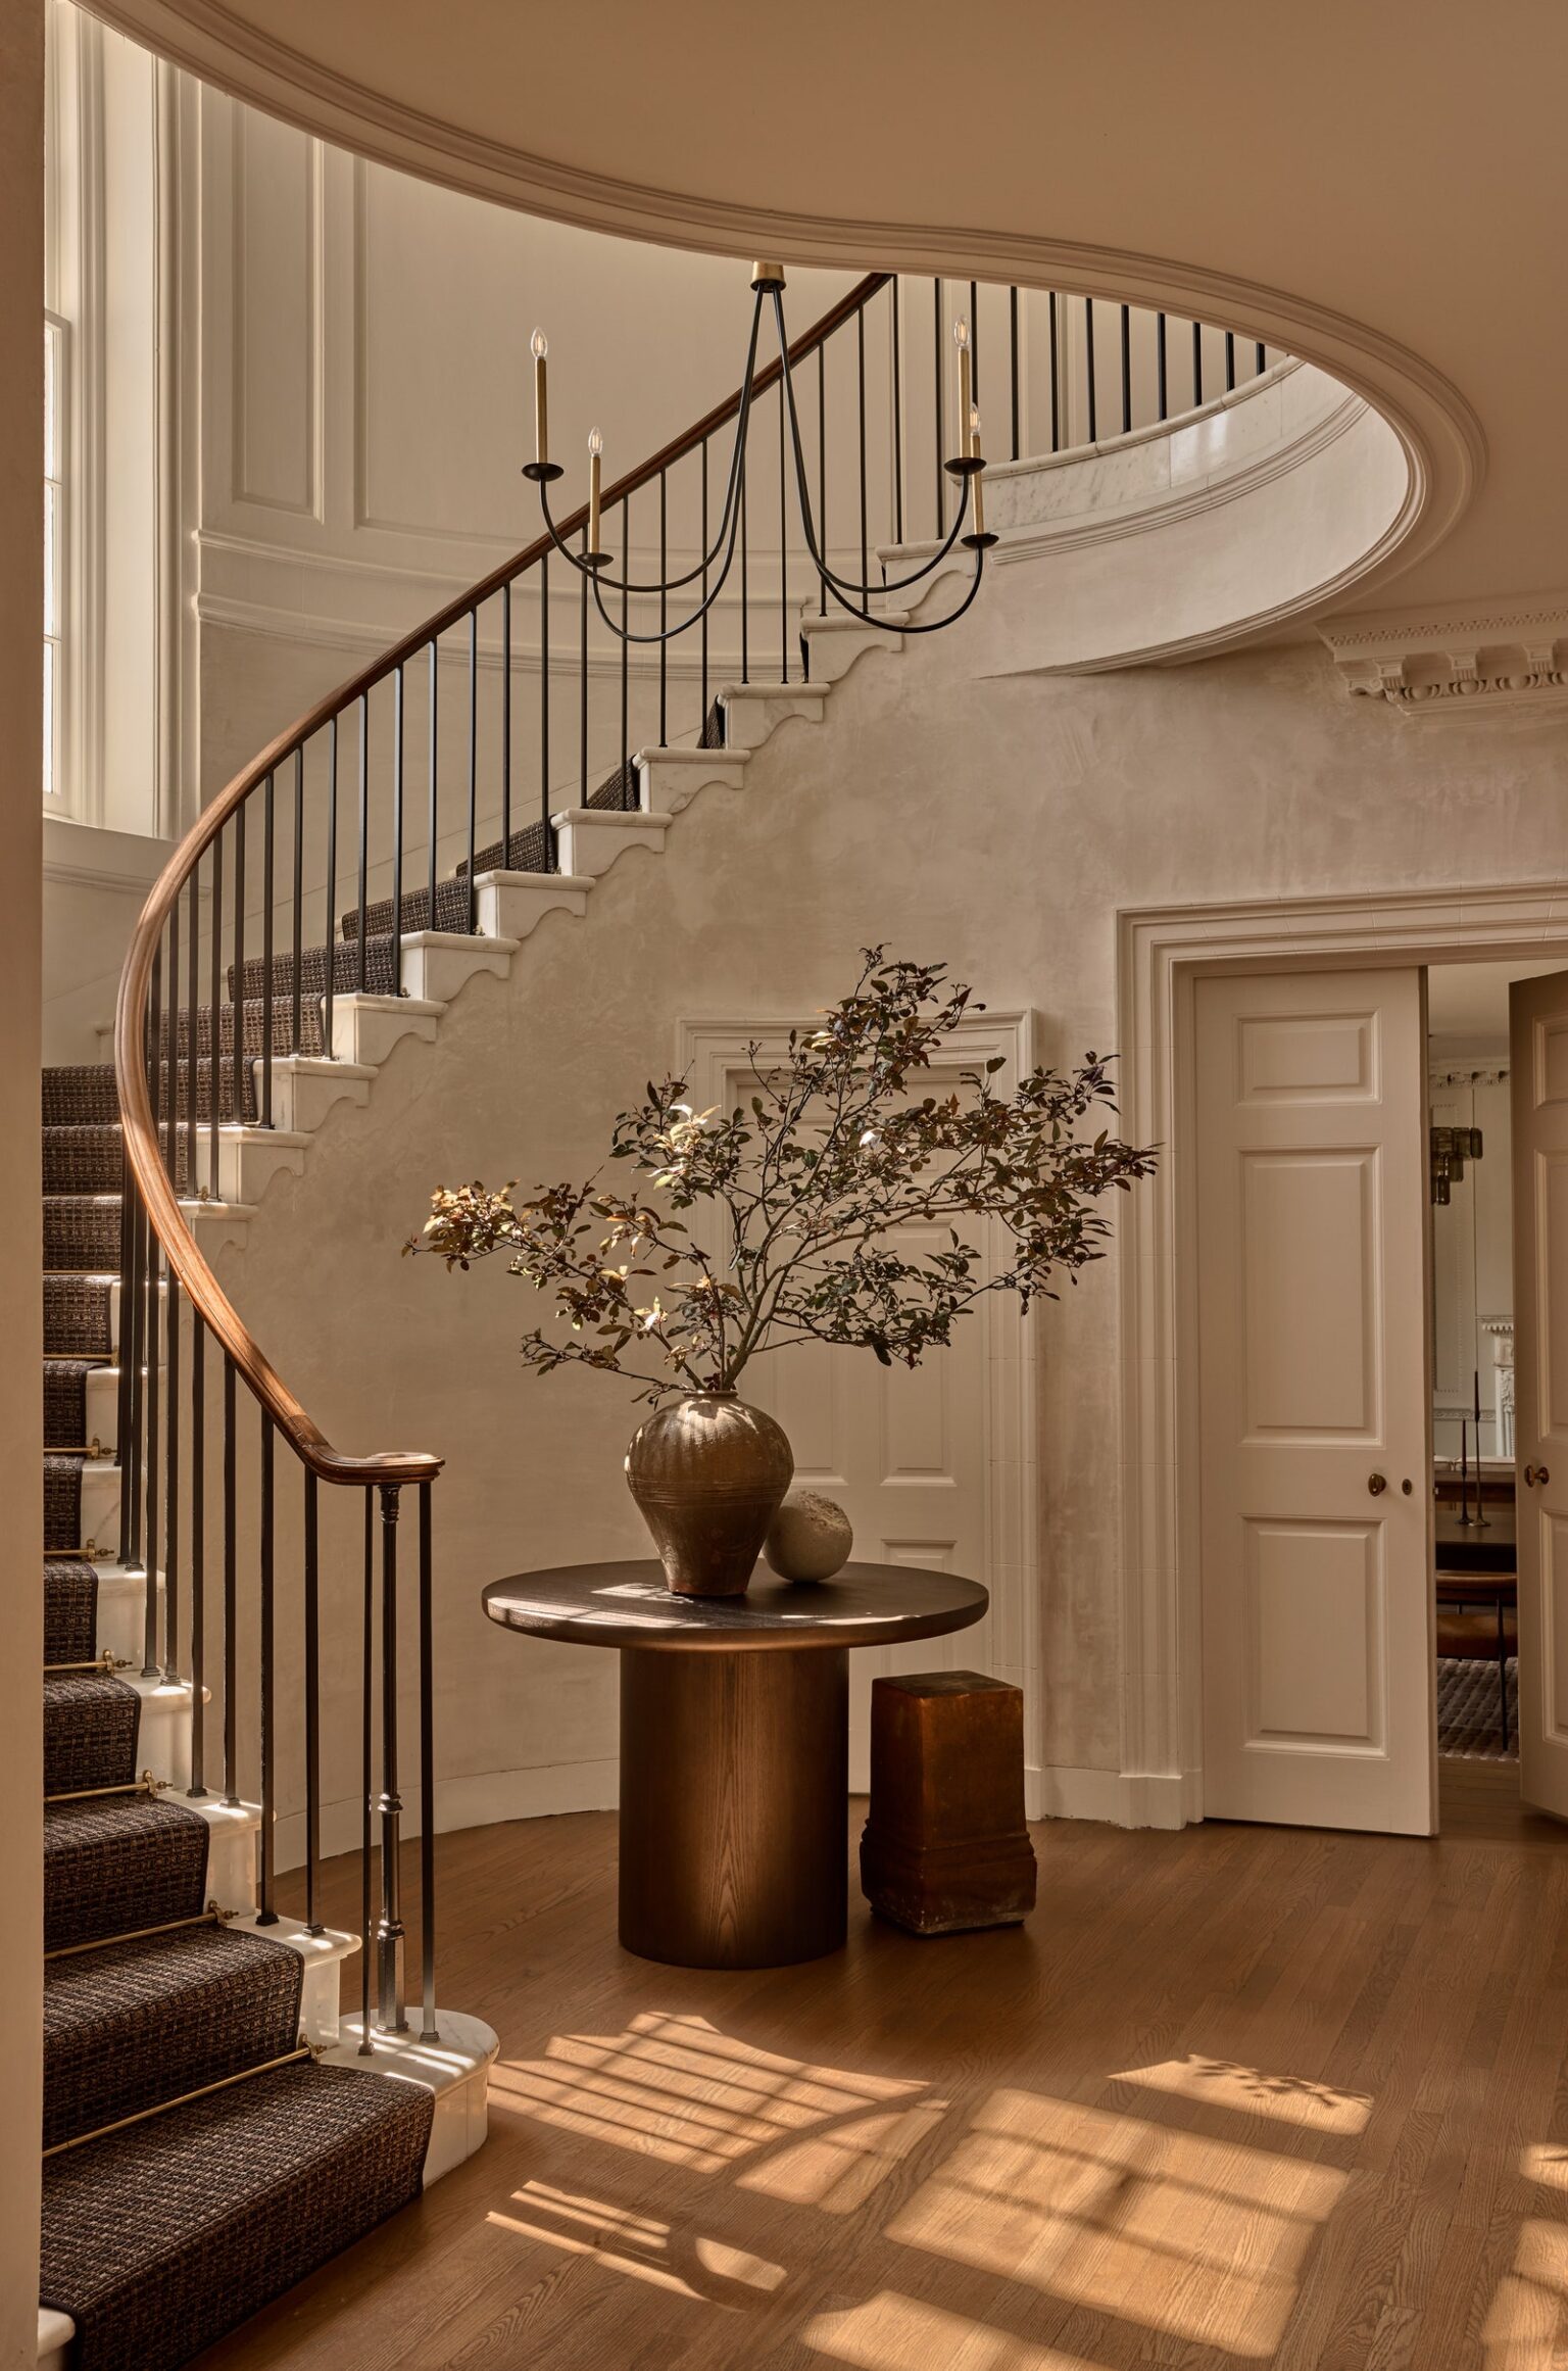
[[[1203,1809],[1428,1835],[1423,974],[1203,979],[1196,1088]]]

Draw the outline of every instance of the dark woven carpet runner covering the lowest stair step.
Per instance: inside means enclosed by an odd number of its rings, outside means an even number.
[[[422,2084],[299,2060],[52,2158],[40,2297],[74,2362],[171,2371],[211,2345],[418,2198],[432,2113]]]

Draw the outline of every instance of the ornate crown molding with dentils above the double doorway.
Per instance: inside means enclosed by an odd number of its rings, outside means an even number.
[[[1568,709],[1568,593],[1336,616],[1319,635],[1345,690],[1402,718]]]

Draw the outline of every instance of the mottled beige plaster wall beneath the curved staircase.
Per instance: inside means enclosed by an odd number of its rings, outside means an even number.
[[[622,1103],[671,1062],[678,1020],[809,1015],[871,941],[1032,1008],[1046,1062],[1115,1048],[1117,908],[1475,882],[1478,846],[1497,882],[1556,884],[1566,790],[1561,718],[1407,723],[1350,699],[1309,647],[987,678],[961,635],[935,638],[861,659],[823,726],[780,728],[745,790],[705,792],[662,858],[624,856],[586,922],[548,918],[510,982],[463,991],[434,1048],[406,1041],[304,1178],[270,1188],[223,1276],[344,1449],[448,1458],[439,1816],[607,1800],[607,1660],[501,1636],[479,1586],[640,1553],[640,1529],[619,1470],[624,1387],[524,1378],[515,1344],[534,1311],[505,1273],[399,1261],[432,1183],[586,1171]],[[1120,1769],[1117,1292],[1110,1259],[1030,1321],[1037,1743],[1067,1778]]]

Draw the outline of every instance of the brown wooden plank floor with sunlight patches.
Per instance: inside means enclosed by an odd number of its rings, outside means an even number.
[[[1556,2371],[1568,1835],[1516,1788],[1447,1764],[1435,1842],[1063,1821],[1025,1930],[856,1902],[764,1975],[617,1949],[607,1814],[448,1835],[491,2141],[202,2362]]]

